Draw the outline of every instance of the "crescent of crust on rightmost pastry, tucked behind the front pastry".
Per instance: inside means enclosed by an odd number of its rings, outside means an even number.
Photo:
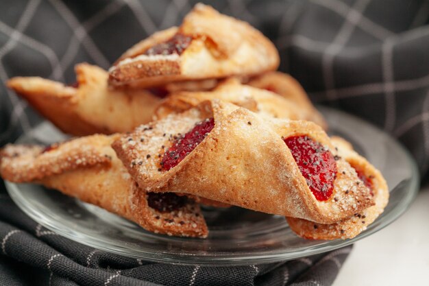
[[[344,139],[333,137],[332,143],[339,149],[339,155],[343,156],[352,167],[362,170],[367,178],[371,178],[375,205],[334,224],[317,224],[305,219],[286,217],[291,229],[300,237],[307,239],[350,239],[356,237],[383,212],[389,201],[389,189],[380,171],[354,152],[352,145]]]

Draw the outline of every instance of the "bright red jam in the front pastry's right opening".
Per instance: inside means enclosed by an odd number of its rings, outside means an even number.
[[[284,139],[291,150],[308,187],[319,201],[328,200],[334,190],[336,163],[334,156],[320,143],[308,136],[292,136]]]

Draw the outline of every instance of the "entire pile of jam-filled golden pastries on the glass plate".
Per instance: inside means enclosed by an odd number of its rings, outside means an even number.
[[[77,83],[8,86],[60,130],[50,146],[6,145],[0,172],[101,206],[154,233],[207,237],[199,204],[286,217],[308,239],[355,237],[388,200],[380,172],[330,138],[303,88],[276,72],[256,29],[197,4],[180,27]],[[97,133],[97,134],[96,134]]]

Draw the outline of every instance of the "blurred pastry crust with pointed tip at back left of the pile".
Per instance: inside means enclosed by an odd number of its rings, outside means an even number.
[[[42,78],[12,78],[9,88],[24,97],[63,132],[76,136],[127,132],[151,121],[160,102],[145,90],[112,90],[108,73],[77,64],[77,88]]]

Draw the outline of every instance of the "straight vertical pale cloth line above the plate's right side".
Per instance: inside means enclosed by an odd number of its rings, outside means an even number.
[[[396,100],[393,82],[393,39],[388,38],[382,45],[382,76],[384,81],[384,99],[386,102],[386,114],[384,118],[384,129],[393,130],[396,119]]]

